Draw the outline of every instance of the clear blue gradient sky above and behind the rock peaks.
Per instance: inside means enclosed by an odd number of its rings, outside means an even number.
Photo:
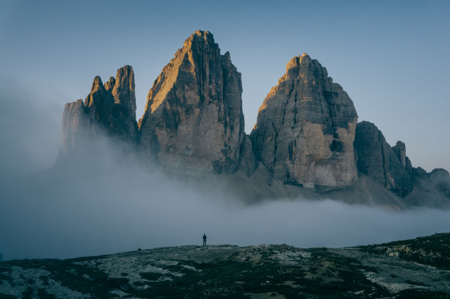
[[[286,63],[306,52],[349,93],[359,121],[406,143],[413,166],[450,170],[449,16],[450,1],[0,1],[0,100],[21,107],[9,110],[17,123],[29,105],[19,101],[56,107],[31,128],[53,141],[28,152],[50,161],[64,103],[85,98],[94,76],[133,66],[140,118],[161,69],[209,30],[242,74],[247,133]]]

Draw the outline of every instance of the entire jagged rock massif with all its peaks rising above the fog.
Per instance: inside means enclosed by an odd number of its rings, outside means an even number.
[[[195,31],[154,81],[136,122],[131,66],[84,101],[67,103],[63,151],[109,139],[135,153],[144,167],[199,178],[246,201],[331,198],[409,208],[450,207],[450,175],[414,168],[406,145],[391,147],[319,61],[295,56],[244,132],[241,74],[209,31]]]

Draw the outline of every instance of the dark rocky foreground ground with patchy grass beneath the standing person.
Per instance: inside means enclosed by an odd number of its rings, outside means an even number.
[[[450,298],[450,233],[354,248],[186,245],[0,263],[0,298]]]

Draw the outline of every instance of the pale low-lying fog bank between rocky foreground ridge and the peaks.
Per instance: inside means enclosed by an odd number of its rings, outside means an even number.
[[[450,211],[389,211],[337,201],[264,201],[244,206],[216,186],[194,186],[102,150],[79,161],[1,182],[0,252],[71,258],[137,248],[286,243],[341,247],[449,230]],[[219,185],[219,184],[218,184]]]

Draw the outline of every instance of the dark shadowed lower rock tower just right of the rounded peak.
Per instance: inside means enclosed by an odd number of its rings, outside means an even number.
[[[404,143],[399,141],[391,148],[374,123],[361,121],[356,126],[354,146],[361,173],[401,197],[411,192],[413,171]]]

